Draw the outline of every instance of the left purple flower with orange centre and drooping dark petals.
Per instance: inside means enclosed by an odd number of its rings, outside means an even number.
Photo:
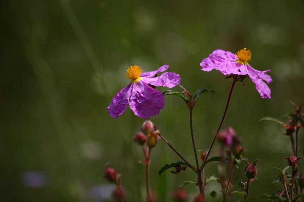
[[[157,115],[159,110],[164,108],[164,96],[161,92],[150,87],[149,84],[173,88],[181,82],[181,77],[173,72],[166,72],[156,77],[156,74],[166,71],[168,68],[169,65],[164,65],[156,71],[144,73],[139,66],[128,68],[126,78],[130,78],[132,81],[113,98],[108,107],[109,114],[113,118],[118,118],[126,111],[129,104],[134,114],[140,118]]]

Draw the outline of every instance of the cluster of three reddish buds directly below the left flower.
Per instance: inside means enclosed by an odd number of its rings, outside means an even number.
[[[146,120],[141,126],[141,132],[136,133],[133,140],[140,146],[147,144],[149,148],[153,148],[158,140],[158,132],[153,122]]]

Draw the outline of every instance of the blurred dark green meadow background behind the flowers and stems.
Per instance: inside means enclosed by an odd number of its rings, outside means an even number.
[[[244,157],[259,158],[250,200],[282,190],[271,185],[276,173],[270,166],[287,165],[289,137],[279,125],[258,121],[292,112],[289,100],[304,102],[303,1],[11,0],[0,5],[1,201],[107,201],[112,189],[102,178],[107,162],[121,174],[129,201],[143,201],[144,166],[138,163],[143,156],[132,140],[143,119],[127,108],[115,120],[107,106],[130,82],[124,77],[130,65],[151,71],[168,64],[190,92],[215,91],[202,94],[194,109],[196,145],[207,149],[232,82],[219,71],[200,71],[202,59],[218,48],[235,53],[247,47],[252,67],[271,69],[272,98],[261,99],[249,79],[244,87],[237,83],[222,128],[237,131]],[[194,164],[188,108],[178,97],[165,100],[151,120]],[[212,155],[218,149],[216,143]],[[158,176],[160,167],[179,160],[161,140],[151,159],[151,189],[159,201],[171,201],[173,190],[195,179],[189,169]],[[206,167],[206,177],[217,175],[217,165]],[[244,166],[234,180],[245,180]],[[216,182],[206,187],[208,201],[221,201],[220,194],[209,196],[218,188]],[[192,197],[198,191],[193,185],[186,190]]]

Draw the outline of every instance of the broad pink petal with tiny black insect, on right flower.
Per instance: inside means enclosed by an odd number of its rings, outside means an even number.
[[[200,63],[202,71],[219,70],[223,75],[247,75],[245,65],[237,62],[237,56],[229,51],[215,50]]]

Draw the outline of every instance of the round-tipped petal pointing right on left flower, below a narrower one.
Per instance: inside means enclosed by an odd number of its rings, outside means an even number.
[[[166,86],[168,88],[174,88],[181,82],[181,77],[173,72],[165,72],[158,77],[143,78],[141,81],[154,86]]]

